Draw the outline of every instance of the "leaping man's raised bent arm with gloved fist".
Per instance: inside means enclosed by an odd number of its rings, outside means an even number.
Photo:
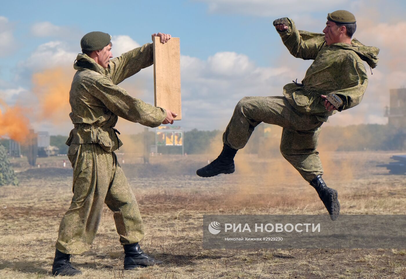
[[[275,19],[273,25],[289,52],[297,58],[315,59],[324,44],[324,34],[297,30],[288,17]]]

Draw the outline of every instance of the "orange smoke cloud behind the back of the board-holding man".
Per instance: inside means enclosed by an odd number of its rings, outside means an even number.
[[[71,112],[69,90],[74,70],[54,68],[32,75],[33,92],[39,100],[37,120],[50,120],[54,124],[67,122]]]

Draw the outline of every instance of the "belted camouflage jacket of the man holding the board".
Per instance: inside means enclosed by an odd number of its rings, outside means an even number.
[[[107,69],[86,54],[78,54],[69,92],[75,127],[66,144],[97,143],[114,151],[122,143],[112,127],[118,116],[145,126],[157,127],[166,117],[165,109],[154,107],[117,86],[127,77],[153,64],[152,44],[145,44],[110,60]]]

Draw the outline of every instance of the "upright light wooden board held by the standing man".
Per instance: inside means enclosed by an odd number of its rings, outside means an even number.
[[[170,109],[177,113],[175,120],[181,120],[179,38],[172,37],[164,44],[160,37],[153,39],[155,106]]]

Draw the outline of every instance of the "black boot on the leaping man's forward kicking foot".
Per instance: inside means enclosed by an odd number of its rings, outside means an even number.
[[[201,177],[212,177],[217,174],[232,174],[235,170],[234,156],[237,151],[237,149],[233,149],[224,144],[223,150],[217,159],[197,170],[196,174]]]

